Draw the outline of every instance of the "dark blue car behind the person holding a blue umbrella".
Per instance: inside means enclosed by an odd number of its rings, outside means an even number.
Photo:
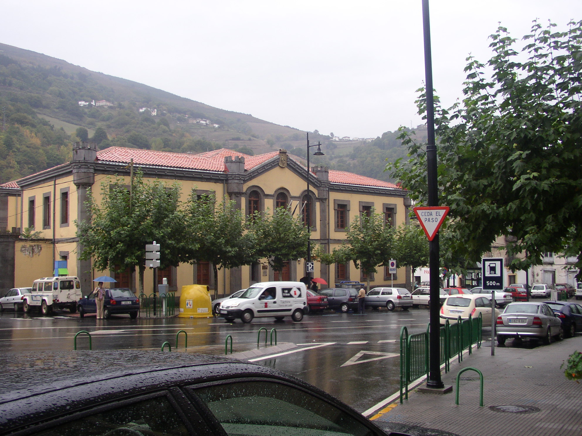
[[[95,303],[95,291],[81,298],[77,304],[79,316],[83,318],[87,313],[97,313],[97,303]],[[129,288],[107,288],[103,302],[103,317],[109,318],[111,315],[129,314],[131,319],[137,318],[140,310],[140,301]]]

